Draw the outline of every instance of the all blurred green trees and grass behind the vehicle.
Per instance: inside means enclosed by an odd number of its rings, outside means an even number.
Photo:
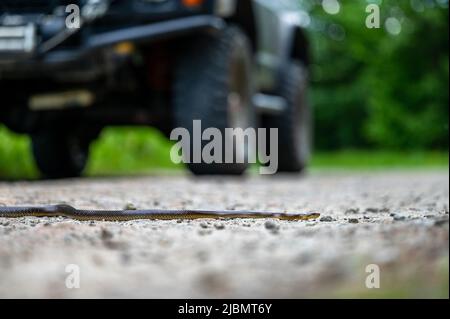
[[[280,0],[283,1],[283,0]],[[366,6],[381,9],[368,29]],[[448,167],[448,0],[299,0],[310,13],[313,167]],[[173,169],[146,128],[108,128],[90,175]],[[33,178],[29,139],[0,125],[0,178]]]

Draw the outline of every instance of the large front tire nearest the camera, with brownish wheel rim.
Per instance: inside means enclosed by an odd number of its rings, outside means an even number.
[[[174,86],[174,126],[185,128],[191,135],[193,121],[201,120],[202,129],[217,128],[222,139],[222,162],[193,163],[188,168],[196,175],[241,175],[247,169],[248,140],[236,142],[234,154],[244,156],[242,163],[225,163],[226,128],[253,127],[255,109],[252,105],[252,54],[247,36],[235,26],[219,33],[197,38],[178,59]],[[209,141],[202,141],[202,149]],[[200,143],[200,142],[199,142]]]

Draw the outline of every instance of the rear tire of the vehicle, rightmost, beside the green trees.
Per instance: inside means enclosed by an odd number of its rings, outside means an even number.
[[[286,109],[264,116],[264,127],[278,128],[278,172],[302,172],[312,149],[312,111],[307,99],[308,72],[300,62],[291,62],[283,72],[277,95]],[[267,142],[270,141],[268,134]],[[271,149],[270,143],[269,149]]]

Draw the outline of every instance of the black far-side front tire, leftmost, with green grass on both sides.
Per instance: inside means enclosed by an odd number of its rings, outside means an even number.
[[[61,132],[32,135],[32,151],[43,177],[50,179],[81,176],[89,155],[90,139]]]

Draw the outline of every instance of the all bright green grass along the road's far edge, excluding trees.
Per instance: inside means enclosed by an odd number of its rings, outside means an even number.
[[[170,141],[151,128],[108,128],[91,147],[88,176],[178,172],[170,161]],[[0,178],[34,179],[39,176],[27,136],[0,126]],[[324,169],[433,169],[448,168],[448,152],[393,152],[347,150],[316,152],[313,170]]]

